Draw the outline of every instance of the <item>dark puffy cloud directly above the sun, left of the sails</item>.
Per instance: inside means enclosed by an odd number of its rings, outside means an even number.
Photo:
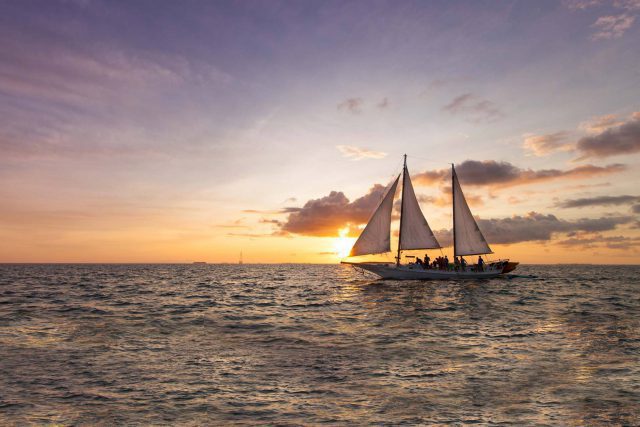
[[[343,192],[332,191],[328,196],[309,200],[290,213],[280,230],[306,236],[335,237],[338,230],[349,227],[349,235],[356,235],[357,227],[367,222],[384,191],[384,186],[376,184],[369,193],[353,202],[349,202]]]

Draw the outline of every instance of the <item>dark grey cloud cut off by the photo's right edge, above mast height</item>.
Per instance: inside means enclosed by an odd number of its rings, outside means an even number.
[[[640,116],[633,113],[632,119],[620,126],[609,128],[598,135],[581,138],[576,144],[576,149],[582,154],[578,160],[640,151]]]

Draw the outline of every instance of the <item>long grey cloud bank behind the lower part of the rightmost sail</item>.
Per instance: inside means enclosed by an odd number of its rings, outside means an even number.
[[[478,227],[490,244],[545,242],[552,240],[556,233],[610,231],[618,225],[633,221],[634,218],[631,216],[582,218],[569,221],[538,212],[514,215],[509,218],[477,219]],[[451,245],[451,230],[438,230],[435,234],[442,245]]]

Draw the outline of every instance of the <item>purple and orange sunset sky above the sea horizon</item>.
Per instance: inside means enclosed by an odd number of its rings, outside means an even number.
[[[441,243],[455,163],[493,258],[640,263],[639,0],[0,11],[0,262],[338,262],[407,153]]]

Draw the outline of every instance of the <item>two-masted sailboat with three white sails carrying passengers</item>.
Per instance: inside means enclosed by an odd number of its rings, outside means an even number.
[[[404,155],[402,173],[384,194],[364,230],[354,243],[349,257],[375,255],[391,252],[391,211],[398,182],[402,177],[400,202],[400,229],[398,251],[395,262],[351,262],[342,261],[356,268],[370,271],[383,279],[431,280],[491,278],[515,269],[517,262],[498,260],[482,265],[467,264],[465,256],[486,255],[493,251],[478,228],[464,197],[454,165],[451,165],[451,191],[453,201],[453,256],[461,262],[450,262],[448,266],[427,266],[420,263],[402,263],[402,251],[441,249],[440,243],[427,223],[411,184]],[[415,257],[409,257],[415,258]]]

